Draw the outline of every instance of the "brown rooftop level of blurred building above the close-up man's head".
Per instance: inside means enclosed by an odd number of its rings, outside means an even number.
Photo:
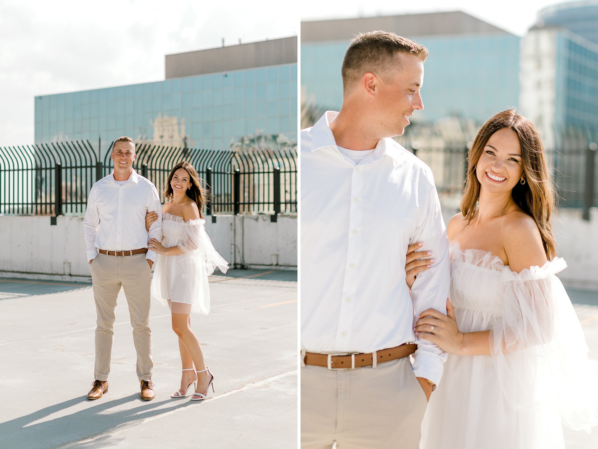
[[[451,11],[301,22],[301,42],[351,40],[355,34],[378,29],[405,37],[511,34],[462,11]]]

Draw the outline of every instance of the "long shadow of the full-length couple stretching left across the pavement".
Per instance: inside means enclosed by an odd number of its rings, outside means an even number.
[[[108,412],[111,408],[134,401],[139,402],[141,405],[112,413]],[[112,401],[103,401],[103,398],[98,399],[96,401],[98,402],[97,405],[84,410],[41,423],[35,423],[35,421],[44,419],[51,414],[81,404],[81,402],[88,402],[87,396],[69,399],[69,401],[42,408],[29,415],[0,423],[0,435],[2,435],[1,447],[10,449],[49,449],[58,446],[62,447],[69,445],[68,443],[90,438],[100,433],[135,425],[136,421],[144,418],[198,404],[198,402],[190,402],[188,400],[176,401],[175,399],[167,399],[160,402],[154,399],[154,401],[142,402],[139,399],[139,393],[136,393],[135,395]],[[166,404],[172,405],[164,406]],[[79,444],[77,447],[106,447],[103,443],[114,447],[114,439],[110,438],[110,435]]]

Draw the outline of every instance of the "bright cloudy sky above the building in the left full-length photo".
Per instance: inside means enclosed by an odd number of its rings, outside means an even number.
[[[166,54],[298,35],[298,17],[280,0],[0,0],[0,146],[33,143],[35,96],[164,80]]]

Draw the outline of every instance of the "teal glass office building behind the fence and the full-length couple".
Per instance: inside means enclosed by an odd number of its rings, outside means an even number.
[[[294,145],[296,61],[295,51],[290,63],[38,96],[35,142],[89,139],[96,145],[101,138],[106,150],[127,135],[145,143],[228,150],[248,136],[268,135],[278,144]]]

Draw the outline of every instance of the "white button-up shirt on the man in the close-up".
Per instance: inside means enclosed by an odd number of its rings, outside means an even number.
[[[449,240],[434,177],[393,139],[356,165],[337,148],[328,111],[301,131],[301,347],[359,352],[416,342],[413,371],[440,382],[446,354],[416,339],[415,317],[446,313]],[[407,247],[437,261],[405,283]]]

